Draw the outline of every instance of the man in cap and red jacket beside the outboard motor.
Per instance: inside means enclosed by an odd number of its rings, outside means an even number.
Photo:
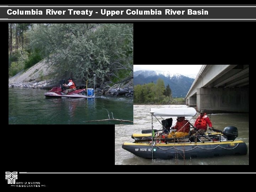
[[[203,134],[207,130],[207,124],[209,125],[210,130],[212,130],[212,122],[209,117],[204,113],[203,110],[200,111],[200,115],[197,117],[196,122],[194,123],[194,127],[197,129],[191,130],[191,134],[199,135]]]

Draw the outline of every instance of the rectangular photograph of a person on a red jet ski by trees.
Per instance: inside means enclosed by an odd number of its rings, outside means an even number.
[[[9,124],[133,124],[133,23],[9,23]]]

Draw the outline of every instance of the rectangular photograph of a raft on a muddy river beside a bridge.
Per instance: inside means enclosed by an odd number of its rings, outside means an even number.
[[[133,65],[115,165],[249,165],[248,65]]]

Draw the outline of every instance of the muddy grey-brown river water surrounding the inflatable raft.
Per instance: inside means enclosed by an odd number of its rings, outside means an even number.
[[[115,126],[115,165],[249,165],[249,114],[208,114],[212,121],[213,128],[223,130],[228,126],[238,128],[238,137],[235,140],[242,140],[248,147],[247,155],[240,156],[222,156],[215,158],[200,158],[190,160],[162,160],[162,159],[143,159],[122,149],[124,142],[132,143],[133,133],[141,133],[144,129],[151,129],[150,108],[169,108],[169,107],[187,107],[185,105],[134,105],[133,106],[133,125]],[[191,119],[194,124],[196,118]],[[161,120],[161,118],[159,118]],[[173,118],[172,124],[176,123]],[[161,124],[153,117],[154,129],[160,129]]]

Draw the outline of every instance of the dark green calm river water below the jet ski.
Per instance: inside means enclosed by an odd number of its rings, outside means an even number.
[[[127,97],[46,98],[47,90],[9,88],[9,124],[133,124],[133,100]],[[113,113],[113,117],[112,117]]]

